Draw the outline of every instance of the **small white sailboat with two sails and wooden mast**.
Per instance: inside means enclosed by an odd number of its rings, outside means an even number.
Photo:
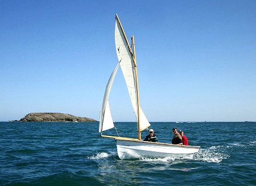
[[[131,46],[126,38],[122,24],[115,15],[115,49],[118,64],[106,85],[104,100],[100,112],[99,133],[101,137],[114,138],[117,153],[121,160],[138,158],[183,157],[199,151],[199,146],[180,146],[169,143],[146,142],[141,139],[141,132],[148,129],[150,123],[139,105],[139,87],[137,76],[137,61],[135,54],[134,36],[131,36]],[[138,138],[103,135],[103,131],[115,128],[109,106],[109,94],[118,68],[121,68],[130,96],[131,105],[137,118]],[[136,126],[134,126],[136,127]]]

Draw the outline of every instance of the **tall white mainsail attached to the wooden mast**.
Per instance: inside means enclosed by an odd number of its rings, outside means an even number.
[[[137,92],[136,92],[136,81],[134,75],[134,59],[133,53],[129,46],[128,40],[126,38],[125,32],[119,22],[117,15],[115,16],[115,48],[117,51],[117,57],[120,61],[120,67],[123,72],[123,77],[125,77],[125,82],[129,92],[131,104],[133,105],[134,113],[137,115]],[[141,107],[140,110],[140,131],[146,129],[150,126],[150,123],[147,121],[146,116],[144,115]]]

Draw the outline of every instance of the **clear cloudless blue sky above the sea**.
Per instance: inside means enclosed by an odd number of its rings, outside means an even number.
[[[256,1],[0,1],[0,121],[99,120],[118,63],[115,14],[134,35],[148,121],[256,121]],[[114,121],[134,121],[121,71]]]

